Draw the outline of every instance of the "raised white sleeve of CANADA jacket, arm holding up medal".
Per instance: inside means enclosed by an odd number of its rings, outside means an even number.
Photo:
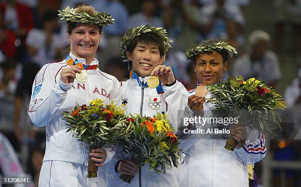
[[[37,127],[45,126],[56,115],[66,99],[67,90],[72,86],[72,83],[64,84],[60,80],[55,83],[57,71],[51,66],[52,64],[44,65],[32,85],[28,114]]]

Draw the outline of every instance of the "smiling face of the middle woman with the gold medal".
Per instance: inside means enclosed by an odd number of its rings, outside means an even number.
[[[163,63],[159,49],[154,44],[143,44],[139,42],[133,52],[127,52],[127,58],[132,61],[133,72],[141,77],[151,75],[152,70]]]

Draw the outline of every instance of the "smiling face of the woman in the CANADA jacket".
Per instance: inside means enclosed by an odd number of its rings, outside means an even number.
[[[81,25],[67,32],[67,39],[70,42],[71,53],[77,57],[85,58],[87,65],[94,59],[102,32],[99,27],[89,24]]]

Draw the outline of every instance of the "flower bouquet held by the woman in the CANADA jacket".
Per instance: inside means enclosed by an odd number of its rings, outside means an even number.
[[[101,99],[95,99],[90,105],[76,105],[74,110],[63,112],[63,119],[79,141],[89,144],[89,152],[106,144],[115,144],[132,133],[133,125],[127,121],[122,107],[105,105]],[[88,178],[97,177],[95,162],[88,163]]]

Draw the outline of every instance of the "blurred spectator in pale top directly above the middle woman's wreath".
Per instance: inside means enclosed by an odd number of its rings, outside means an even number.
[[[143,0],[141,12],[133,14],[129,18],[128,28],[150,24],[155,27],[163,27],[161,18],[154,15],[156,4],[153,0]]]

